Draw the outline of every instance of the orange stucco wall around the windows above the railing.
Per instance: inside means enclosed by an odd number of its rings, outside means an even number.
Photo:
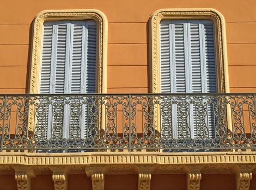
[[[45,9],[99,9],[108,18],[108,92],[149,89],[150,15],[161,8],[214,8],[225,17],[231,92],[255,92],[256,1],[1,1],[0,93],[28,92],[32,22]]]

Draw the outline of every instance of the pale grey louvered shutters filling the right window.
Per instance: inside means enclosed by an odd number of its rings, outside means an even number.
[[[169,25],[169,43],[163,33],[163,26]],[[167,52],[169,50],[170,60]],[[180,20],[162,21],[160,24],[160,53],[161,53],[161,92],[170,93],[214,93],[217,92],[216,61],[214,44],[214,26],[206,20]],[[169,68],[168,68],[169,62]],[[168,72],[170,71],[169,78]],[[170,85],[168,80],[170,79]],[[169,86],[170,88],[168,88]],[[166,87],[167,86],[167,87]],[[186,103],[181,99],[179,103]],[[214,138],[214,110],[213,106],[203,107],[202,100],[196,101],[195,105],[181,106],[172,105],[173,137],[179,135],[191,136],[209,135]],[[200,116],[203,109],[208,109],[208,116]],[[163,110],[165,111],[165,110]],[[184,113],[189,113],[188,116]],[[203,131],[205,126],[209,129]],[[190,131],[189,131],[190,129]],[[198,134],[199,133],[199,134]]]

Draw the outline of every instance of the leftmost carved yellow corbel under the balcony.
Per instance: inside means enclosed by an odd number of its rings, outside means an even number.
[[[32,169],[25,167],[15,168],[15,180],[17,181],[18,190],[30,190],[31,178],[34,178],[34,172]]]

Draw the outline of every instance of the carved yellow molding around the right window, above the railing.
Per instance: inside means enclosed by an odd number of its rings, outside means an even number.
[[[216,41],[217,78],[219,92],[229,92],[227,43],[225,37],[225,20],[215,9],[160,9],[150,17],[151,37],[151,92],[160,93],[160,35],[162,20],[208,19],[214,22]]]

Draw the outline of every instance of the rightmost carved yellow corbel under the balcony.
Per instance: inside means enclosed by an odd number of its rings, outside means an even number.
[[[236,189],[249,190],[250,180],[252,179],[252,169],[247,167],[240,167],[236,173]]]

